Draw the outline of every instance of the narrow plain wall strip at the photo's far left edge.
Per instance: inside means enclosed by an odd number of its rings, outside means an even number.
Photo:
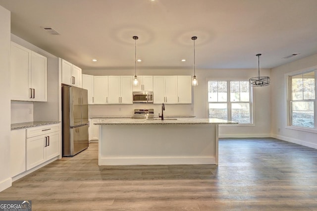
[[[0,191],[12,184],[10,177],[10,12],[0,6]]]

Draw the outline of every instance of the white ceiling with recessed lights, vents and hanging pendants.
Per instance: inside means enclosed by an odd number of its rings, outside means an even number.
[[[272,68],[317,53],[317,0],[0,0],[11,31],[83,69]],[[41,27],[52,27],[51,35]],[[283,58],[293,53],[297,56]],[[98,59],[93,62],[92,59]],[[185,62],[181,59],[185,58]]]

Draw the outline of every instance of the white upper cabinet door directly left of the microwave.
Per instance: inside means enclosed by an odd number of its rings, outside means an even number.
[[[132,96],[132,81],[133,77],[130,75],[120,76],[120,97],[121,104],[132,104],[133,96]]]

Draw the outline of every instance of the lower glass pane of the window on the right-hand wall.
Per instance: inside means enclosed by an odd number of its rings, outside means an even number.
[[[314,102],[292,102],[292,125],[314,128]]]

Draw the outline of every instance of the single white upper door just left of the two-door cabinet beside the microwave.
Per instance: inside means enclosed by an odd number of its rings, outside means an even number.
[[[108,76],[94,76],[94,104],[108,103]]]

